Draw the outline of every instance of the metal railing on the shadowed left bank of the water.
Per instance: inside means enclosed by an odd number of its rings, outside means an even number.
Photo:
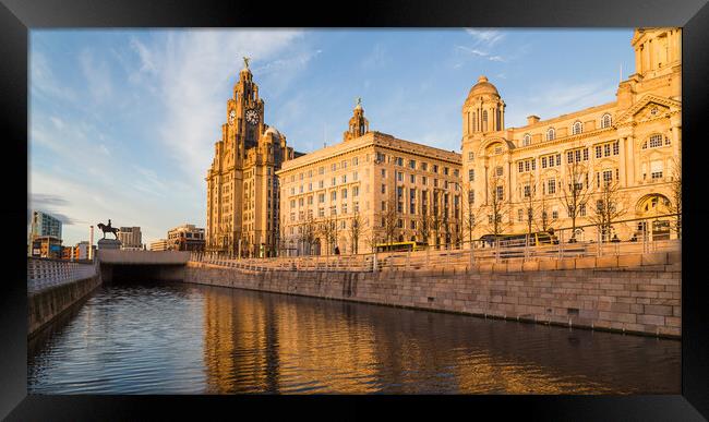
[[[96,265],[63,260],[27,257],[27,293],[94,277]]]

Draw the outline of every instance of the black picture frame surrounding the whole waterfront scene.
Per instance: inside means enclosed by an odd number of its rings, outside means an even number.
[[[709,5],[706,0],[537,0],[493,2],[363,1],[341,8],[255,1],[2,0],[0,5],[0,110],[5,181],[0,213],[4,282],[0,294],[0,418],[8,420],[134,420],[184,417],[199,411],[245,410],[271,419],[274,411],[327,419],[372,418],[370,405],[390,405],[397,419],[492,419],[520,415],[532,420],[700,421],[709,418],[709,333],[700,218],[709,213],[700,197],[709,110]],[[264,397],[264,396],[27,396],[26,241],[28,34],[49,27],[683,27],[683,191],[685,213],[682,284],[682,395],[675,396],[417,396],[417,397]],[[706,162],[704,162],[706,167]],[[688,176],[688,177],[686,177]],[[10,194],[10,192],[12,192]],[[9,231],[9,232],[8,232]],[[24,240],[23,240],[24,239]],[[20,245],[20,248],[17,248]],[[648,371],[652,371],[648,367]],[[357,400],[357,403],[352,401]],[[278,401],[280,403],[275,403]],[[275,406],[274,406],[275,405]],[[328,405],[328,406],[326,406]],[[334,406],[332,406],[334,405]],[[305,412],[307,413],[303,413]],[[462,413],[459,413],[462,412]],[[384,415],[382,413],[381,415]],[[704,415],[704,417],[702,417]],[[226,419],[226,418],[225,418]]]

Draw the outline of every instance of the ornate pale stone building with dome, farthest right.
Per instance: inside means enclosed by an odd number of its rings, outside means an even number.
[[[621,240],[677,236],[678,220],[661,216],[681,209],[681,29],[636,29],[630,44],[636,72],[614,101],[521,128],[505,126],[505,103],[480,76],[462,106],[466,241],[594,224]],[[608,224],[644,217],[659,218]],[[594,227],[576,233],[597,239]]]

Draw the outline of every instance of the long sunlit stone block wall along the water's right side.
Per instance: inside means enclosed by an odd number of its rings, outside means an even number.
[[[190,262],[185,281],[662,337],[682,333],[680,252],[462,272],[251,272]]]

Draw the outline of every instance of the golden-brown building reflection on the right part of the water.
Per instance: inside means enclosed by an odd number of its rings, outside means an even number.
[[[680,393],[674,340],[216,287],[204,296],[206,393]]]

